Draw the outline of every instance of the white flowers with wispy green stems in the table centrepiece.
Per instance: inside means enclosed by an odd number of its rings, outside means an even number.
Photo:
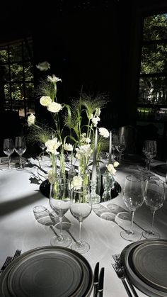
[[[50,69],[50,64],[42,62],[37,67],[45,72]],[[65,154],[70,155],[71,165],[73,157],[78,160],[78,175],[88,179],[88,168],[92,164],[91,159],[95,148],[96,128],[98,129],[98,162],[100,162],[100,152],[104,147],[108,147],[108,130],[103,127],[98,128],[100,112],[107,103],[107,96],[106,94],[91,96],[81,92],[79,99],[71,100],[70,104],[59,103],[57,101],[58,82],[62,82],[62,79],[53,74],[47,75],[46,79],[42,79],[38,85],[40,105],[50,113],[54,125],[52,127],[44,125],[33,114],[30,114],[28,116],[30,139],[43,142],[46,146],[46,152],[52,160],[52,172],[49,172],[50,182],[58,174],[65,174]],[[63,118],[63,123],[60,121],[60,116]],[[57,157],[59,157],[59,172],[57,171]]]

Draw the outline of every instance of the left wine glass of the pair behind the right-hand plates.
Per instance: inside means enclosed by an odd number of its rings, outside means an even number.
[[[140,232],[133,229],[134,211],[144,203],[144,181],[140,176],[128,175],[125,179],[123,188],[123,201],[129,211],[132,213],[131,228],[120,232],[120,235],[125,240],[136,241],[140,240],[142,235]]]

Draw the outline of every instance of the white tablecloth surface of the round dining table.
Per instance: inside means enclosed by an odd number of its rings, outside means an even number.
[[[49,199],[40,191],[42,175],[39,175],[39,168],[36,164],[38,164],[36,160],[30,158],[23,170],[18,170],[18,168],[8,170],[0,167],[0,267],[6,257],[12,256],[17,249],[23,253],[37,247],[50,246],[51,237],[54,236],[53,228],[50,228],[50,225],[39,223],[33,213],[35,206],[45,206],[48,211],[53,212]],[[164,163],[153,160],[151,174],[159,176],[165,181],[165,176],[154,172],[154,167],[157,164]],[[117,167],[115,181],[122,188],[125,176],[142,170],[142,166],[143,164],[123,162],[122,160],[120,166]],[[120,210],[129,212],[122,200],[122,191],[110,201],[93,206],[93,211],[84,220],[81,228],[83,240],[90,245],[90,250],[83,256],[91,265],[92,271],[97,262],[100,263],[100,268],[105,268],[104,297],[126,297],[125,287],[113,269],[112,256],[120,254],[132,242],[124,240],[120,236],[122,228],[125,227],[124,222],[115,220],[115,215],[112,216],[112,206],[117,208],[118,212]],[[69,222],[69,228],[63,230],[64,234],[71,235],[72,240],[78,240],[79,222],[71,215],[70,211],[65,214],[65,219]],[[150,225],[151,211],[143,204],[134,213],[134,229],[142,233]],[[161,238],[167,240],[166,202],[162,208],[156,211],[154,226],[159,231]],[[56,226],[54,230],[59,233]],[[143,239],[144,237],[142,237]],[[138,288],[135,289],[139,297],[146,296]],[[93,290],[91,296],[93,296]]]

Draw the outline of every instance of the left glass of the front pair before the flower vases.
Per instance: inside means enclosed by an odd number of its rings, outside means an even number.
[[[71,204],[69,179],[59,177],[50,185],[50,207],[59,216],[59,235],[52,237],[51,245],[69,247],[71,238],[62,234],[62,218]]]

